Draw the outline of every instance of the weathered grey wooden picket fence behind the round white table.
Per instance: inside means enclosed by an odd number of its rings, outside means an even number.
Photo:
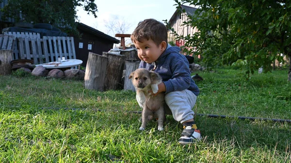
[[[76,59],[73,37],[40,38],[39,33],[5,33],[14,37],[13,59],[32,59],[34,64],[56,61],[58,58]]]

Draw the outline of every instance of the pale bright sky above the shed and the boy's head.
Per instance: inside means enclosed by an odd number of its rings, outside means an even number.
[[[77,15],[81,23],[100,30],[106,34],[108,28],[104,27],[104,20],[110,21],[114,15],[118,15],[121,21],[129,24],[129,30],[125,34],[131,34],[137,24],[147,18],[158,21],[169,19],[176,11],[174,0],[95,0],[97,4],[97,18],[88,15],[82,8],[77,8]]]

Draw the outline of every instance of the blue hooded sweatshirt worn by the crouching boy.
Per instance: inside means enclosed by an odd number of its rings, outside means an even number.
[[[166,50],[155,62],[149,64],[142,60],[139,68],[153,70],[160,74],[166,87],[165,93],[189,89],[196,96],[199,94],[198,86],[190,75],[189,62],[184,55],[180,54],[180,48],[177,46],[168,44]]]

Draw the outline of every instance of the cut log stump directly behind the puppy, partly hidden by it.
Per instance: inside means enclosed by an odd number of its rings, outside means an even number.
[[[131,79],[129,79],[129,75],[138,69],[140,61],[126,61],[126,73],[125,73],[125,80],[124,80],[124,90],[132,90],[135,91]]]

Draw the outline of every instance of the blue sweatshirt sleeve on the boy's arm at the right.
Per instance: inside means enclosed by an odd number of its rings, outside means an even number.
[[[165,93],[188,89],[191,84],[189,64],[187,64],[184,59],[180,59],[177,62],[170,64],[170,69],[173,75],[168,81],[163,81],[166,88]]]

